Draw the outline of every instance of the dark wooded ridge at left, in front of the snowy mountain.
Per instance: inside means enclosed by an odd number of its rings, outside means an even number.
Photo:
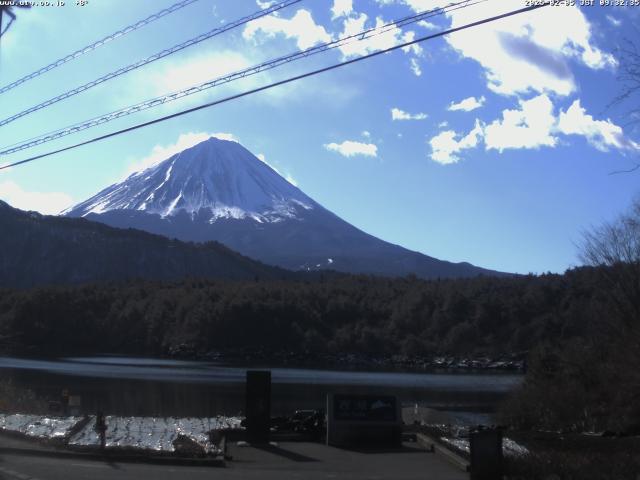
[[[133,278],[281,278],[223,245],[187,244],[84,219],[24,212],[0,201],[0,287]]]

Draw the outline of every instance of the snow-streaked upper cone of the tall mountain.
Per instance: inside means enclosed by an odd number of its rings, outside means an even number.
[[[237,142],[210,138],[136,172],[65,214],[137,210],[169,217],[186,212],[218,219],[278,222],[317,204]]]

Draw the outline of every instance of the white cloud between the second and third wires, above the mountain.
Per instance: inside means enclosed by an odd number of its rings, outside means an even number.
[[[242,36],[245,40],[257,42],[260,33],[267,38],[284,35],[285,38],[294,39],[300,49],[331,41],[331,35],[322,25],[316,24],[311,12],[305,9],[298,10],[290,19],[267,15],[253,20],[247,24]]]

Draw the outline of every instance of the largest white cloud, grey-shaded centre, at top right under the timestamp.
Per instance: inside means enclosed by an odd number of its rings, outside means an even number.
[[[442,6],[439,0],[378,0],[381,2],[403,3],[415,12]],[[517,7],[515,3],[521,2],[487,2],[455,10],[447,16],[455,28],[506,13]],[[576,89],[569,60],[592,69],[616,65],[612,55],[594,46],[591,32],[589,21],[577,6],[542,8],[453,33],[446,41],[462,57],[483,67],[488,87],[496,93],[569,95]]]

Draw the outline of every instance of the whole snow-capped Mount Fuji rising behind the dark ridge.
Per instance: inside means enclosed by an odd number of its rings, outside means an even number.
[[[291,270],[423,278],[497,272],[438,260],[340,219],[234,141],[215,137],[63,212],[184,241],[219,241]]]

